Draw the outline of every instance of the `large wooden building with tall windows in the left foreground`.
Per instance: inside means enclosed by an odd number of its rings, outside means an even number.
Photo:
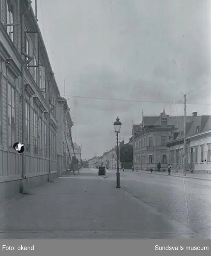
[[[60,95],[28,0],[0,0],[0,192],[57,176]],[[12,148],[23,142],[24,154]]]

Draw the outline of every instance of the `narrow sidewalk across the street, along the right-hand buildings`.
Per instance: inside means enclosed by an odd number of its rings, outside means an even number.
[[[138,171],[138,173],[151,174],[150,171]],[[160,172],[159,173],[157,171],[154,171],[152,173],[157,174],[157,175],[168,175],[168,172]],[[190,172],[188,172],[186,174],[186,176],[184,176],[181,172],[171,172],[171,176],[198,179],[198,180],[211,180],[211,174],[205,174],[205,173],[190,173]]]

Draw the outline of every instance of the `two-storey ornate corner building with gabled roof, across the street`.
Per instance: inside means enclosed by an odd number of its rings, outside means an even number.
[[[197,116],[186,116],[192,121]],[[167,168],[167,143],[177,137],[184,127],[183,116],[166,115],[165,109],[160,116],[143,116],[140,126],[134,125],[134,169],[157,169],[160,162],[161,169]]]

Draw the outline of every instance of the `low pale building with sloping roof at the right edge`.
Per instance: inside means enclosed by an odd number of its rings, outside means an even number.
[[[175,140],[167,143],[172,168],[182,172],[184,163],[184,129]],[[186,123],[187,170],[211,173],[211,116],[198,116]]]

